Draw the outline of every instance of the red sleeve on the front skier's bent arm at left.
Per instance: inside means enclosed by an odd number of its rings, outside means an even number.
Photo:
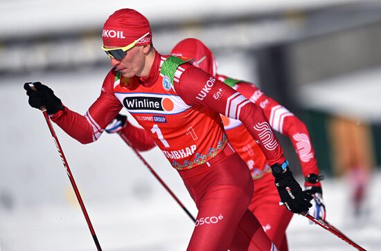
[[[88,144],[98,140],[109,122],[116,117],[122,109],[122,104],[113,93],[114,74],[109,72],[98,99],[90,106],[85,115],[80,115],[69,108],[64,107],[51,116],[62,130],[82,144]]]

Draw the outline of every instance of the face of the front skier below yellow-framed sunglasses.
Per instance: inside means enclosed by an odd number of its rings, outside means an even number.
[[[125,55],[122,61],[111,58],[111,65],[121,72],[123,77],[134,77],[135,75],[141,77],[144,64],[145,54],[143,53],[143,46],[134,46],[130,50],[127,50],[127,55]]]

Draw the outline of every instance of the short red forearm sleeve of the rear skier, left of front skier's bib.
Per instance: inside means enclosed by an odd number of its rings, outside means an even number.
[[[119,135],[127,145],[134,146],[138,151],[148,151],[156,145],[150,133],[145,129],[134,127],[128,120]]]

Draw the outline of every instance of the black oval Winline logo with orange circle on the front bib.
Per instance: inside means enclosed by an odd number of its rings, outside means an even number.
[[[174,104],[168,97],[125,97],[123,100],[128,110],[172,111]]]

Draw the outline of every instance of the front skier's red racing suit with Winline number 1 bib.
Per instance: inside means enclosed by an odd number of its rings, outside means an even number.
[[[269,165],[282,164],[283,150],[259,106],[200,68],[155,52],[148,77],[125,78],[112,69],[85,115],[64,107],[51,119],[71,137],[89,143],[100,137],[123,106],[152,133],[195,200],[199,224],[188,250],[276,250],[247,210],[250,174],[227,147],[219,114],[245,124]],[[200,223],[216,216],[223,220]]]

